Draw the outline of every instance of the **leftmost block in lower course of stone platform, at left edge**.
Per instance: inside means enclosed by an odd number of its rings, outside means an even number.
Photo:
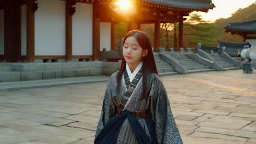
[[[21,81],[20,72],[0,72],[0,82]]]

